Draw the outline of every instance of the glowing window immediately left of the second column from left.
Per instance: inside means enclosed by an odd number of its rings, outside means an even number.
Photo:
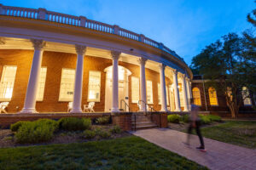
[[[73,88],[75,81],[74,69],[62,69],[60,101],[73,101]]]

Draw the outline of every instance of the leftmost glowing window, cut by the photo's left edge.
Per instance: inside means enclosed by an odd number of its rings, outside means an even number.
[[[12,98],[17,66],[3,66],[3,73],[0,82],[0,100],[9,101]]]

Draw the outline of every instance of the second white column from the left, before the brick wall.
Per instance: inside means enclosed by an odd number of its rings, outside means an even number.
[[[73,90],[73,108],[71,113],[81,113],[81,101],[82,101],[82,90],[83,90],[83,74],[84,74],[84,54],[86,47],[82,45],[76,45],[76,52],[78,54],[77,58],[77,68],[75,75],[75,84]]]

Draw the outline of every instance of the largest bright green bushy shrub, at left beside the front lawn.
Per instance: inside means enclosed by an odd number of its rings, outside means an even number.
[[[20,144],[47,142],[53,138],[57,127],[57,122],[49,119],[24,122],[15,133],[15,139]]]

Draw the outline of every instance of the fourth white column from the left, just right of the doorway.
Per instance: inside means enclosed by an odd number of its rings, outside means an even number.
[[[146,94],[146,75],[145,75],[145,64],[147,59],[140,58],[138,59],[140,63],[140,83],[141,83],[141,100],[143,102],[141,103],[141,111],[147,111],[147,94]]]

